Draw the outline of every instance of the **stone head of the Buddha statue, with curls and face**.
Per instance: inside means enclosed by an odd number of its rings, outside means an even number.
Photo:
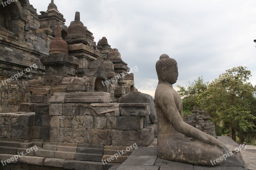
[[[176,60],[167,54],[161,55],[156,62],[156,72],[159,82],[176,83],[179,75]]]

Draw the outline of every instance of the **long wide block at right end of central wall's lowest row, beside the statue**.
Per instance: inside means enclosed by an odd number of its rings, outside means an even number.
[[[154,140],[154,130],[143,128],[141,130],[111,130],[112,145],[130,146],[148,146]]]

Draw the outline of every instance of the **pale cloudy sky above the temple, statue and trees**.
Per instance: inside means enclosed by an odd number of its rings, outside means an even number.
[[[47,2],[49,1],[49,2]],[[29,0],[46,11],[50,0]],[[94,41],[106,37],[134,73],[136,88],[155,95],[156,62],[167,54],[178,63],[176,85],[205,82],[225,70],[246,66],[256,85],[255,0],[55,0],[66,26],[79,11]]]

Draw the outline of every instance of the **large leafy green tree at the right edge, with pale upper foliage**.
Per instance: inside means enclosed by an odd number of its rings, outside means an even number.
[[[229,125],[229,137],[236,140],[236,132],[241,136],[247,129],[253,129],[256,119],[251,114],[253,86],[247,82],[251,71],[239,66],[226,70],[226,73],[212,81],[207,90],[198,95],[198,103],[220,117]]]

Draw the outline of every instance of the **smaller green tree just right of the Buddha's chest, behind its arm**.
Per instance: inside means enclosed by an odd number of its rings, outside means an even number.
[[[198,95],[207,89],[209,82],[204,83],[203,76],[198,77],[193,83],[188,82],[189,85],[186,87],[177,85],[179,88],[178,93],[182,98],[183,113],[184,115],[190,114],[194,106],[198,107]]]

